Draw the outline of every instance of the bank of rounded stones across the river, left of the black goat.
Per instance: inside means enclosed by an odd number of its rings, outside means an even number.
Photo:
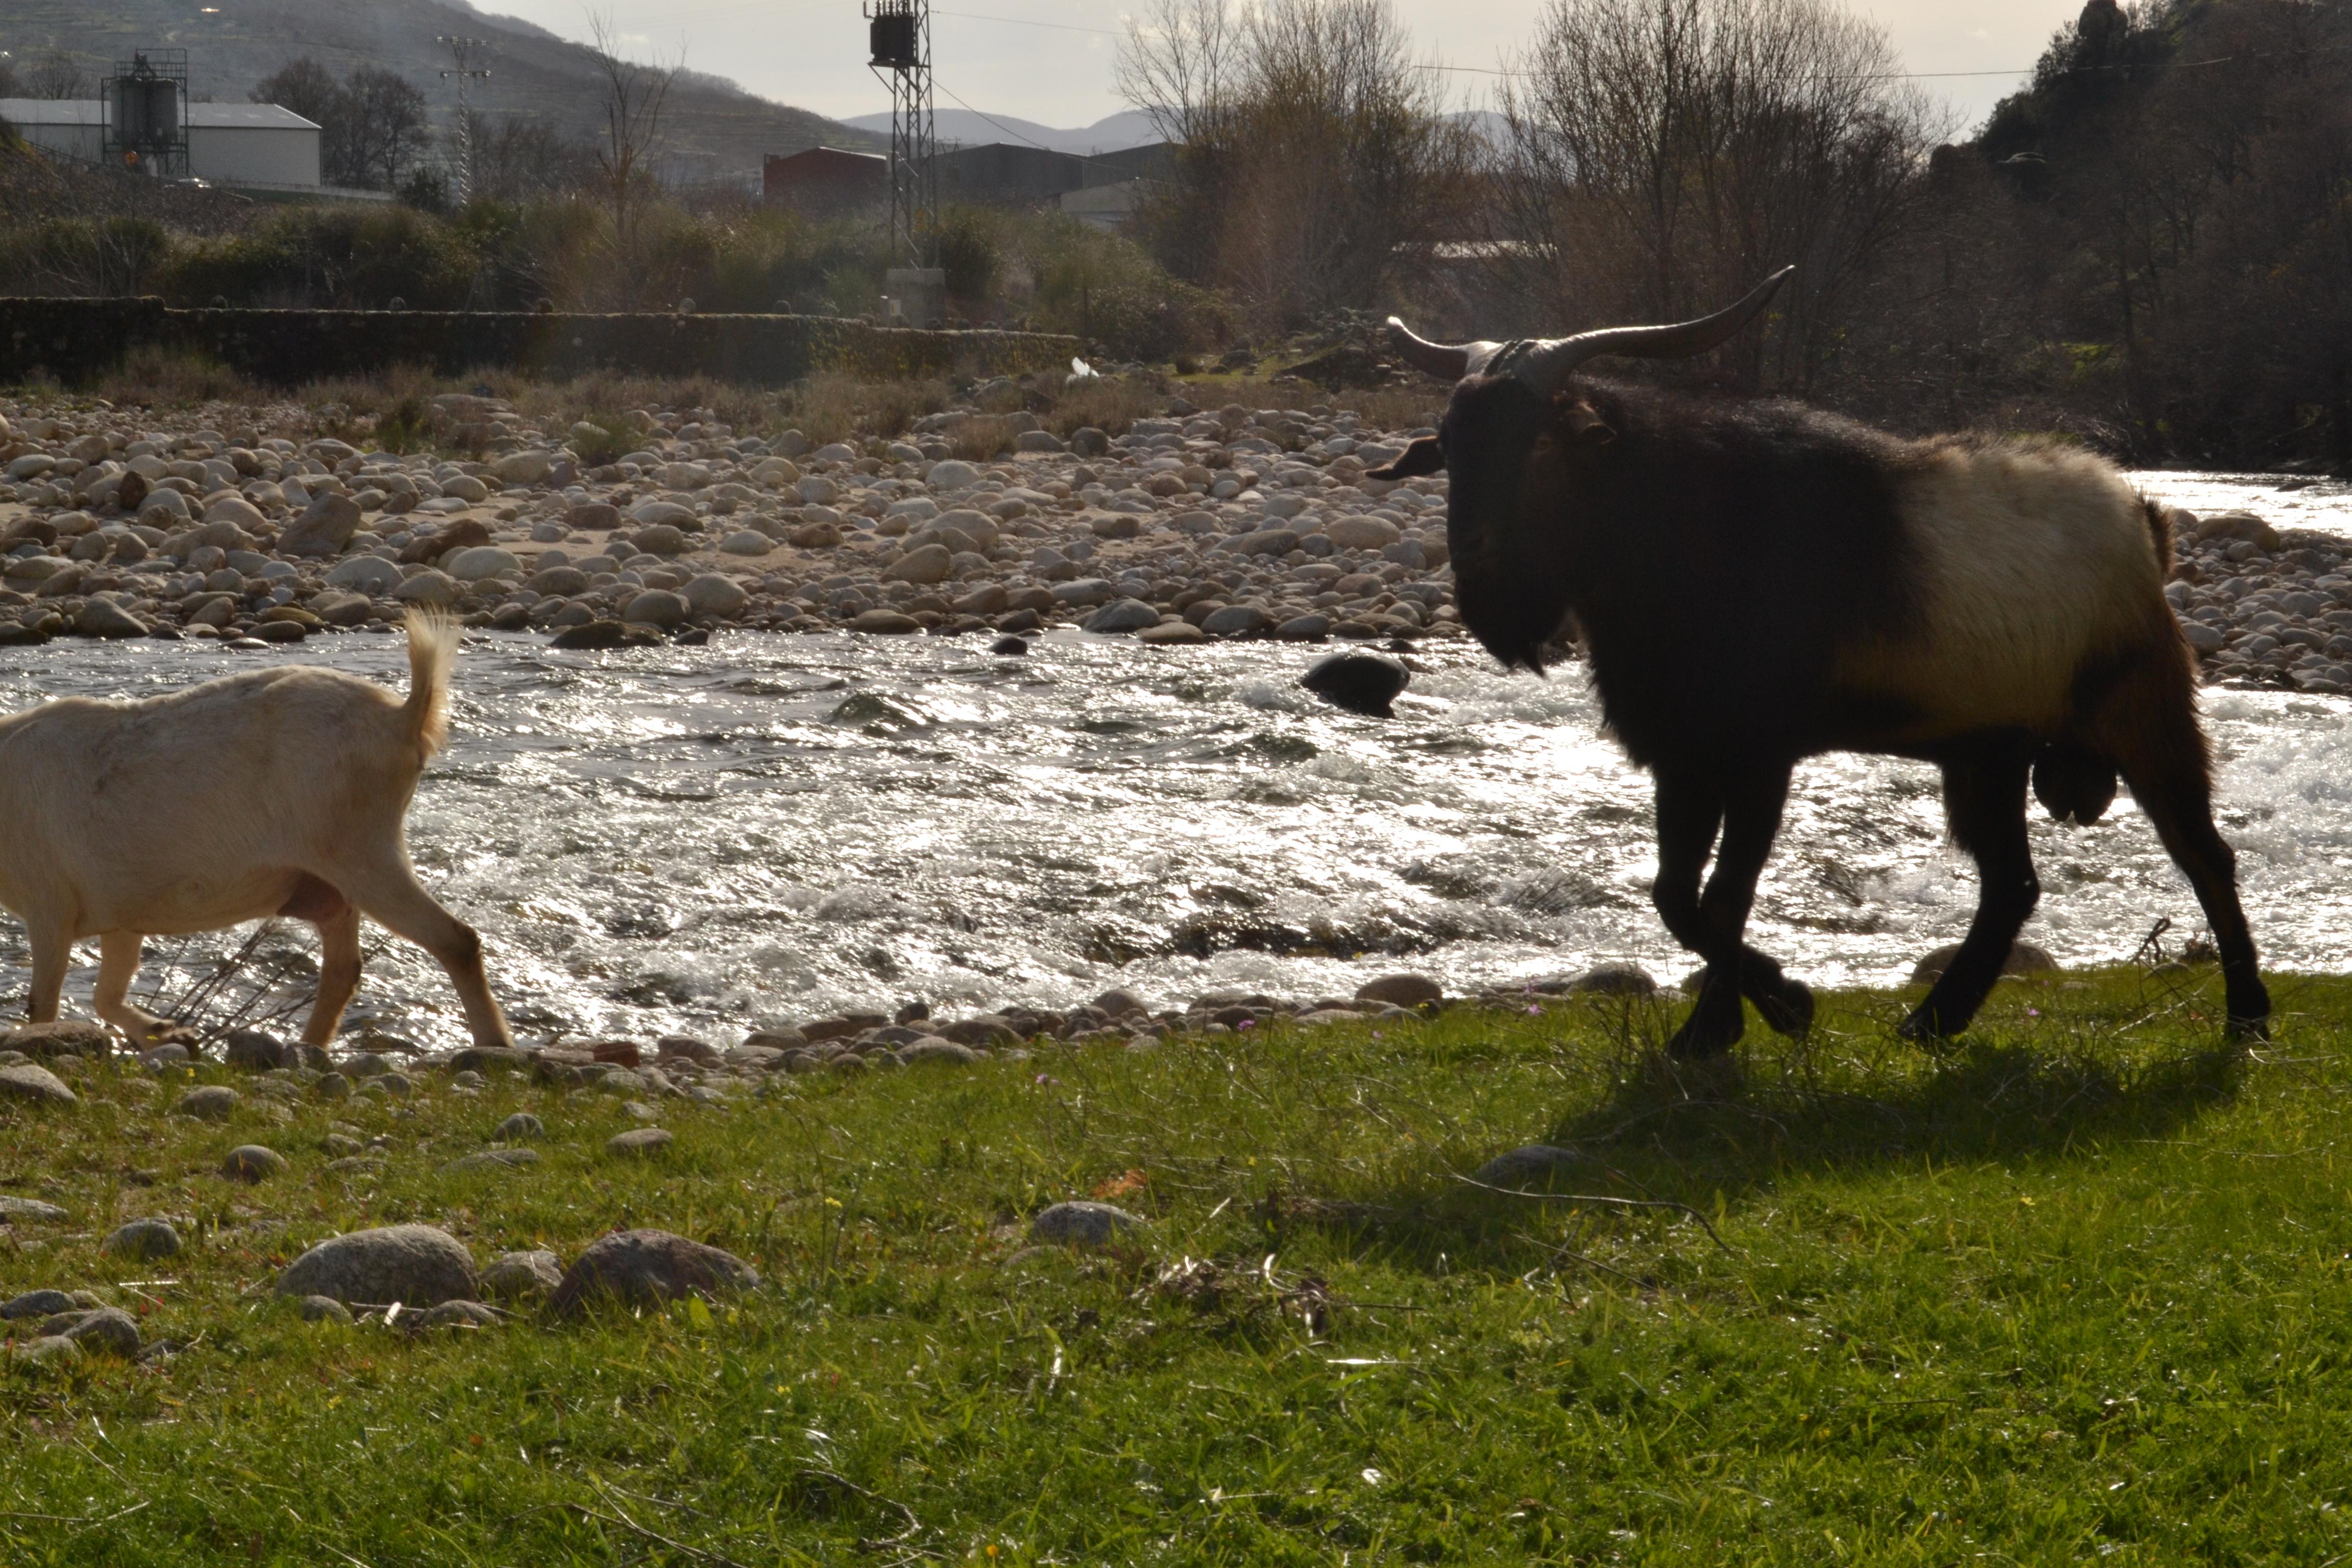
[[[1152,644],[1458,635],[1444,477],[1364,470],[1404,435],[1329,407],[1195,411],[1110,437],[993,421],[1018,451],[950,456],[971,414],[913,440],[809,449],[640,409],[642,444],[583,468],[506,404],[480,463],[334,437],[146,430],[111,409],[0,428],[0,639],[299,642],[416,604],[567,646],[715,628],[1030,632]],[[496,451],[503,447],[503,451]]]

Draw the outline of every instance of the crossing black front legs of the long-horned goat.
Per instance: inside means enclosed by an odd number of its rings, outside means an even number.
[[[1740,940],[1757,877],[1780,832],[1785,799],[1785,769],[1731,783],[1700,773],[1658,773],[1658,882],[1651,900],[1675,940],[1708,964],[1698,1006],[1668,1044],[1679,1058],[1722,1056],[1745,1034],[1743,992],[1764,1023],[1783,1034],[1797,1034],[1813,1020],[1813,994],[1785,978],[1778,961]],[[1722,853],[1700,893],[1698,872],[1717,827],[1724,835]]]

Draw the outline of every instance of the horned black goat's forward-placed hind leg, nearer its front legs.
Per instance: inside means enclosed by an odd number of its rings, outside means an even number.
[[[1943,769],[1943,809],[1952,837],[1976,860],[1980,889],[1959,954],[1903,1020],[1907,1039],[1945,1039],[1969,1027],[2002,978],[2018,929],[2042,900],[2025,842],[2027,769],[2030,757],[2020,750],[1987,750]]]

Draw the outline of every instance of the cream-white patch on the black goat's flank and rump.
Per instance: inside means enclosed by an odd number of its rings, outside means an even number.
[[[1903,635],[1851,644],[1839,684],[1919,712],[1900,738],[2058,738],[2100,654],[2178,642],[2140,496],[2096,456],[1931,442],[1900,482],[1917,571]]]

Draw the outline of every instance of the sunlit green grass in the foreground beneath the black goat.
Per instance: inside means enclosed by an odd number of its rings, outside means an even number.
[[[146,1331],[191,1349],[0,1375],[0,1561],[2336,1561],[2352,983],[2279,997],[2241,1056],[2209,971],[2009,985],[1940,1058],[1830,997],[1679,1084],[1672,1013],[1616,1001],[1047,1046],[673,1100],[642,1166],[593,1091],[209,1126],[99,1065],[0,1112],[0,1190],[75,1213],[0,1232],[0,1288],[172,1279]],[[510,1110],[539,1168],[442,1171]],[[381,1180],[325,1171],[329,1114]],[[1541,1138],[1595,1154],[1562,1192],[1696,1218],[1456,1180]],[[249,1140],[292,1173],[212,1173]],[[1096,1190],[1131,1248],[1023,1246]],[[146,1213],[200,1239],[96,1255]],[[423,1340],[268,1300],[400,1220],[482,1260],[659,1225],[769,1286]]]

